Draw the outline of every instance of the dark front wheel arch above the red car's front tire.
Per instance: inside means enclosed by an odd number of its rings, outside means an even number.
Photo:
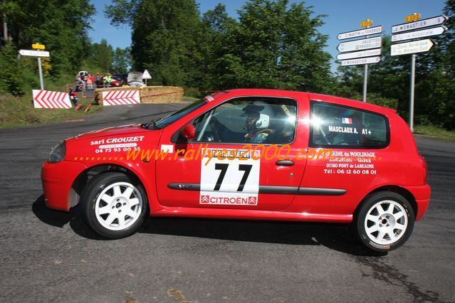
[[[125,166],[119,164],[98,164],[95,166],[90,166],[84,171],[82,171],[74,179],[73,184],[71,185],[70,188],[70,192],[68,193],[68,208],[73,208],[74,206],[78,205],[80,201],[80,196],[82,196],[85,186],[91,179],[93,179],[94,176],[115,171],[131,176],[132,178],[136,179],[140,184],[142,184],[142,186],[144,186],[145,188],[145,184],[143,180],[140,178],[140,176],[138,176],[138,174],[135,171],[127,169]]]

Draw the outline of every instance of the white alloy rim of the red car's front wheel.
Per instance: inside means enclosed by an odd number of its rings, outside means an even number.
[[[95,217],[108,230],[125,230],[142,213],[142,195],[136,186],[127,182],[110,184],[95,201]]]

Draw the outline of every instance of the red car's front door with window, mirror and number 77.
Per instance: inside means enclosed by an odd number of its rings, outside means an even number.
[[[298,135],[302,130],[298,115],[298,102],[293,98],[236,97],[185,122],[194,126],[192,140],[164,129],[160,143],[171,147],[174,156],[157,161],[159,203],[286,209],[306,164],[305,159],[296,160],[305,140]]]

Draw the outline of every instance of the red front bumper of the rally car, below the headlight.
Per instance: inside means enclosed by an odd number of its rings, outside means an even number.
[[[41,181],[43,182],[46,206],[59,211],[69,211],[68,196],[71,186],[85,169],[87,169],[87,166],[80,162],[44,162],[43,166],[41,166]]]

